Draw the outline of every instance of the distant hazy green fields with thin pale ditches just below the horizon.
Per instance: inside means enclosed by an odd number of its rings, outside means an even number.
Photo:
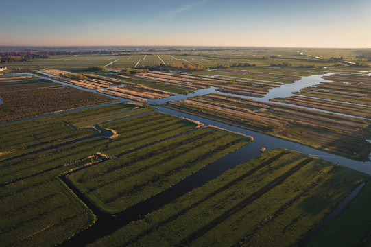
[[[363,51],[367,51],[363,49]],[[303,52],[303,55],[300,55]],[[310,56],[309,56],[310,55]],[[204,67],[216,67],[219,65],[232,66],[233,64],[249,63],[255,64],[256,67],[265,67],[266,69],[280,71],[285,73],[304,75],[311,73],[311,67],[318,69],[346,68],[357,70],[357,67],[351,67],[344,61],[348,62],[371,62],[357,58],[359,49],[298,49],[298,48],[235,48],[221,49],[219,51],[132,51],[125,56],[108,56],[108,55],[58,55],[50,56],[49,59],[34,59],[29,62],[12,62],[5,63],[8,68],[22,69],[40,69],[44,67],[54,67],[56,69],[71,68],[88,68],[93,66],[106,66],[108,68],[133,68],[145,67],[173,63],[194,64]],[[318,58],[316,58],[318,57]],[[344,57],[342,61],[331,60],[331,57]],[[113,63],[112,63],[113,62]],[[110,64],[112,63],[112,64]],[[282,67],[279,64],[287,63],[289,66]],[[276,66],[272,66],[275,64]],[[337,64],[337,66],[334,66]],[[250,67],[248,67],[250,68]],[[313,72],[315,73],[315,72]]]

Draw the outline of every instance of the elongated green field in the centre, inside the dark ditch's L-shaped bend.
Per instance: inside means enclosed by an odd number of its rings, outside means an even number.
[[[162,125],[157,125],[158,131],[163,131],[160,128]],[[170,128],[181,130],[183,124],[178,125]],[[112,145],[115,145],[115,141],[112,140]],[[249,142],[248,137],[210,127],[125,154],[126,150],[132,148],[129,141],[126,145],[120,143],[118,147],[123,155],[119,154],[117,158],[99,166],[75,172],[67,178],[97,207],[115,213],[171,187]]]

